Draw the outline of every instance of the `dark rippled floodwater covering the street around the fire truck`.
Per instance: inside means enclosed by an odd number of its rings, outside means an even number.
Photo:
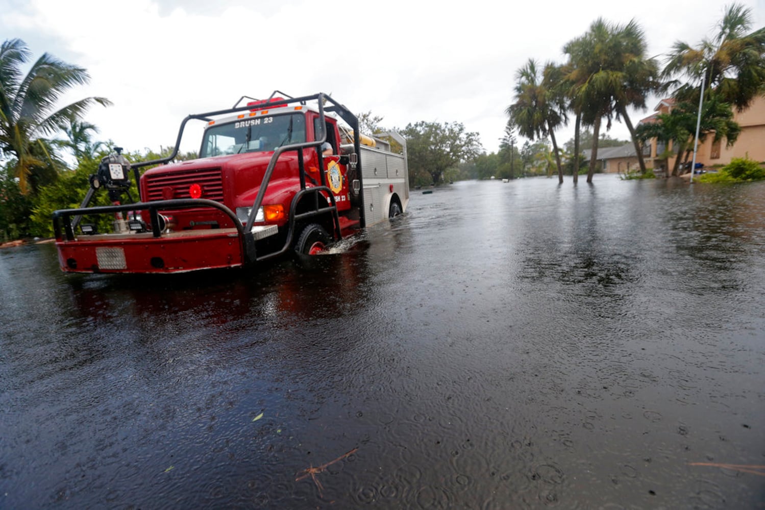
[[[343,249],[0,251],[0,507],[765,505],[697,464],[765,464],[763,184],[457,183]]]

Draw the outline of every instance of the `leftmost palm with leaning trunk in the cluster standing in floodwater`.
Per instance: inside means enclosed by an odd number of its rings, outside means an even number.
[[[544,69],[539,70],[536,60],[529,59],[525,66],[516,71],[516,102],[508,106],[505,112],[509,116],[509,123],[516,126],[519,134],[529,140],[550,137],[558,165],[558,182],[562,183],[563,167],[555,140],[555,129],[565,125],[568,118],[565,114],[565,96],[559,86],[560,79],[560,67],[554,63],[546,63]]]

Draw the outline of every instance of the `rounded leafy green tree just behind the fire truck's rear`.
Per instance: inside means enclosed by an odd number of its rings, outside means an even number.
[[[422,173],[431,177],[432,184],[438,184],[444,171],[480,153],[478,133],[465,131],[460,122],[415,122],[401,134],[406,138],[410,184],[415,184]]]

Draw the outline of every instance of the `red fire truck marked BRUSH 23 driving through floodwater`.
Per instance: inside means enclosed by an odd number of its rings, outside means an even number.
[[[175,273],[316,255],[405,212],[398,133],[361,135],[356,115],[323,93],[244,100],[188,115],[167,158],[131,163],[119,148],[103,158],[82,206],[54,212],[62,270]],[[206,123],[199,158],[172,163],[190,120]],[[112,205],[88,206],[102,191]]]

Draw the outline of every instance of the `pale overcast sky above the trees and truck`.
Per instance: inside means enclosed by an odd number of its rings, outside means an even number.
[[[753,28],[765,0],[746,0]],[[563,45],[597,17],[646,33],[649,55],[674,41],[715,33],[715,0],[644,2],[301,2],[299,0],[0,0],[0,34],[19,37],[85,67],[90,85],[68,101],[103,96],[86,120],[96,139],[126,151],[173,145],[190,113],[224,109],[239,97],[330,93],[353,112],[409,122],[462,122],[496,151],[513,102],[516,70],[529,57],[563,62]],[[638,119],[649,115],[635,112]],[[571,122],[573,124],[573,122]],[[563,128],[558,140],[571,138]],[[627,138],[614,124],[610,135]],[[185,139],[184,150],[197,150]]]

